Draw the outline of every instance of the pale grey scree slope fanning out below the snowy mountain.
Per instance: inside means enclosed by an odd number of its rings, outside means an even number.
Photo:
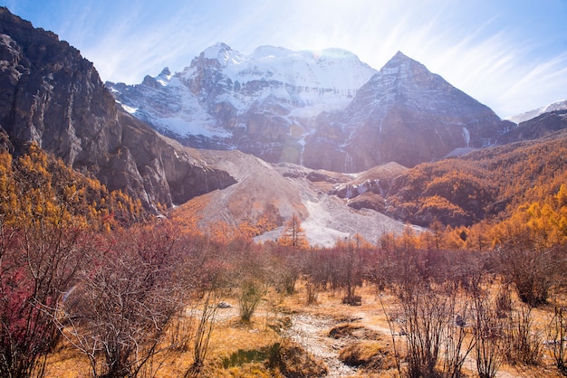
[[[293,164],[271,165],[238,151],[224,154],[220,166],[238,183],[171,210],[168,216],[175,222],[224,237],[236,230],[252,231],[256,241],[274,241],[281,237],[285,222],[297,215],[310,245],[324,247],[355,233],[377,242],[384,232],[400,233],[405,228],[404,222],[376,210],[356,210],[347,205],[347,199],[333,194],[333,188],[359,175],[313,171]]]

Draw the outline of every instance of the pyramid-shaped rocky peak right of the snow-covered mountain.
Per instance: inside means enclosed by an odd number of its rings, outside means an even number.
[[[398,52],[338,117],[322,119],[305,164],[356,172],[395,161],[414,166],[458,147],[491,146],[514,124]],[[309,143],[312,142],[312,143]],[[326,148],[328,159],[317,156]]]

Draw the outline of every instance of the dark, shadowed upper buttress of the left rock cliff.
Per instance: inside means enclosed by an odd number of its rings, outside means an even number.
[[[76,49],[2,8],[0,60],[0,124],[16,148],[35,141],[70,165],[101,165],[120,146],[111,94]]]

